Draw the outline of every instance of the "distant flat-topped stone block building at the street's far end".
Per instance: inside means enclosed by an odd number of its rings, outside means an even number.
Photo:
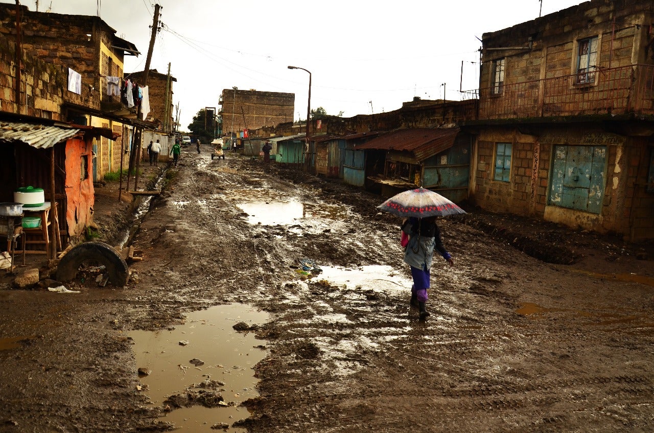
[[[295,94],[223,89],[218,104],[222,106],[222,132],[229,135],[292,122]]]

